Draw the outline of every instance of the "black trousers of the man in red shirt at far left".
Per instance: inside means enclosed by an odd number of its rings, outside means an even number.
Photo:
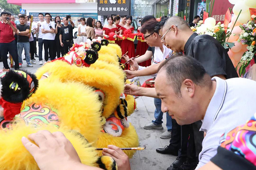
[[[0,43],[1,56],[4,64],[4,68],[10,69],[7,61],[8,52],[12,55],[13,61],[15,63],[14,68],[19,68],[18,50],[15,40],[10,43]]]

